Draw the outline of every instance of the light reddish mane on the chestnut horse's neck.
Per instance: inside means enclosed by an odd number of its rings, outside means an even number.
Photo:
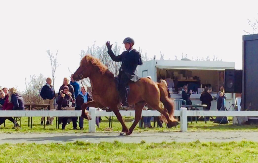
[[[95,58],[95,57],[93,57],[91,55],[86,55],[81,60],[80,65],[83,65],[85,62],[91,63],[94,67],[98,68],[98,71],[102,75],[105,74],[105,75],[107,75],[109,77],[114,77],[114,74],[111,71],[109,71],[107,66],[103,65],[98,58]]]

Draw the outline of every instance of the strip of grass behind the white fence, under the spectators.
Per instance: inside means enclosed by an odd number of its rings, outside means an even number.
[[[33,118],[33,127],[30,129],[28,127],[28,118],[22,117],[21,128],[12,129],[13,123],[11,123],[9,120],[6,120],[6,127],[4,127],[4,124],[2,124],[0,127],[0,133],[82,133],[82,132],[88,132],[88,121],[84,120],[84,130],[72,130],[72,122],[66,126],[65,130],[56,129],[55,120],[53,122],[53,125],[46,126],[45,129],[43,129],[43,126],[40,125],[40,117],[34,117]],[[132,125],[133,117],[124,117],[127,127],[129,128]],[[230,119],[230,118],[229,118]],[[157,125],[157,124],[156,124]],[[153,122],[152,122],[153,126]],[[139,128],[138,125],[135,127],[134,132],[162,132],[162,131],[180,131],[180,125],[173,128],[166,128],[163,124],[164,128]],[[60,125],[61,128],[61,125]],[[79,127],[78,127],[79,128]],[[121,131],[122,127],[120,125],[120,122],[114,117],[113,119],[113,127],[112,129],[109,128],[108,120],[105,117],[102,117],[102,122],[100,123],[100,128],[96,128],[97,132],[114,132],[114,131]],[[235,131],[235,130],[241,130],[241,131],[258,131],[258,125],[232,125],[232,122],[225,125],[219,125],[217,123],[213,123],[211,121],[208,121],[207,124],[205,124],[203,121],[198,121],[196,124],[193,122],[192,124],[189,122],[188,124],[188,131]]]

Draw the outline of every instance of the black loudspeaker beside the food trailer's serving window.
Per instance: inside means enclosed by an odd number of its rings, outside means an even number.
[[[225,92],[242,93],[242,70],[225,70]]]

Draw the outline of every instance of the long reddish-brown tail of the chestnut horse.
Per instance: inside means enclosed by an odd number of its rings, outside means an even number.
[[[177,121],[177,119],[175,119],[173,117],[174,115],[174,102],[172,99],[168,98],[168,91],[167,91],[167,86],[165,86],[164,84],[158,84],[158,88],[160,91],[160,102],[162,102],[162,104],[164,105],[164,108],[167,110],[168,115],[170,117],[171,121]],[[163,116],[162,116],[163,117]],[[164,117],[162,118],[164,119]]]

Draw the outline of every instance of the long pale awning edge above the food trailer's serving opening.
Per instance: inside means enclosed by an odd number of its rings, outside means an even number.
[[[156,66],[159,69],[192,69],[192,70],[217,70],[225,71],[225,69],[231,69],[229,67],[188,67],[188,66]],[[232,68],[234,69],[234,68]]]

